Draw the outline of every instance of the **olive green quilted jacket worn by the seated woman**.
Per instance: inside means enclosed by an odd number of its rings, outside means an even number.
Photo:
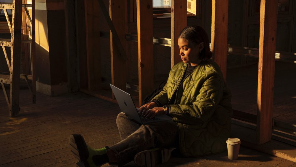
[[[183,156],[222,152],[230,137],[231,92],[214,61],[202,61],[181,81],[186,66],[183,62],[174,65],[163,90],[152,100],[170,104],[167,114],[178,125]],[[175,91],[176,99],[171,99]]]

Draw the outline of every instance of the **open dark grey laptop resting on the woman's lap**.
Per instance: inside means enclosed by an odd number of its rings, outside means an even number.
[[[118,102],[118,105],[122,112],[136,120],[138,123],[141,124],[149,124],[155,123],[160,121],[167,121],[172,120],[172,117],[164,114],[164,115],[156,115],[155,117],[145,118],[144,115],[139,114],[138,109],[136,108],[133,99],[130,94],[126,93],[125,91],[115,87],[114,85],[110,84],[111,89],[114,93],[114,96]]]

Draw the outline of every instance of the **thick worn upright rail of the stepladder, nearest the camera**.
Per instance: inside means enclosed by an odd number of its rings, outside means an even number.
[[[22,1],[13,1],[12,9],[12,30],[13,35],[11,41],[13,46],[11,48],[10,67],[12,74],[10,74],[10,95],[9,95],[9,116],[14,117],[20,111],[19,107],[19,92],[20,92],[20,41],[21,41],[21,19],[22,19]]]

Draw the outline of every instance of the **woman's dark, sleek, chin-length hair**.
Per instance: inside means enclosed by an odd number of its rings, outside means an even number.
[[[210,50],[210,42],[205,30],[200,26],[188,26],[185,27],[179,34],[178,38],[188,40],[189,44],[198,45],[201,42],[205,43],[205,47],[202,49],[199,59],[208,60],[212,58],[212,52]]]

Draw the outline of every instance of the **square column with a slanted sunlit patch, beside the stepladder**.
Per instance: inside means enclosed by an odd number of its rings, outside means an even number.
[[[57,96],[67,82],[63,0],[36,0],[36,90]]]

